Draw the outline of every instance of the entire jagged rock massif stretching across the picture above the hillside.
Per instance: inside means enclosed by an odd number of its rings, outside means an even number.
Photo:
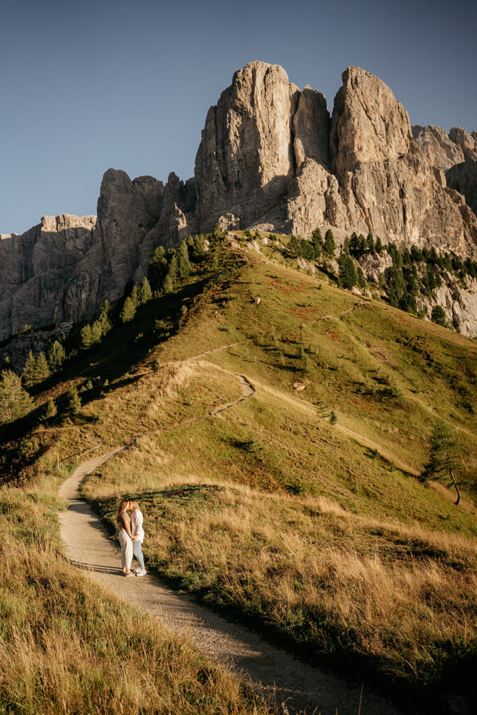
[[[97,217],[44,217],[0,240],[0,339],[92,315],[138,282],[157,245],[189,233],[315,227],[477,257],[477,134],[414,127],[393,93],[358,67],[326,99],[278,65],[252,62],[211,107],[195,177],[133,181],[109,169]],[[446,175],[444,175],[446,171]]]

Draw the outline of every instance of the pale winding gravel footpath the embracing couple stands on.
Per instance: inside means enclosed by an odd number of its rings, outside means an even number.
[[[252,396],[255,390],[247,378],[237,378],[242,397],[198,419],[230,409]],[[176,426],[179,425],[173,425]],[[59,513],[59,519],[72,563],[112,595],[160,618],[172,633],[188,638],[203,654],[252,684],[260,696],[285,715],[305,709],[308,715],[399,715],[393,704],[368,690],[366,684],[360,704],[361,684],[304,664],[267,643],[255,631],[231,623],[192,597],[164,586],[155,576],[124,578],[119,549],[89,504],[79,497],[78,489],[87,475],[128,447],[118,447],[82,463],[59,490],[69,506]]]

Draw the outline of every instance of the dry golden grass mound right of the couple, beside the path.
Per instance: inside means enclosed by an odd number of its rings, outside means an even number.
[[[111,478],[103,468],[99,481]],[[473,649],[469,538],[353,515],[323,497],[257,498],[245,485],[169,482],[139,499],[150,565],[310,651],[347,651],[423,682]],[[112,522],[115,501],[96,503]]]

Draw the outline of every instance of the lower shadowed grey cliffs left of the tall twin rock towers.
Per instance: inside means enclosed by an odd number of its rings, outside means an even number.
[[[166,186],[152,177],[131,181],[109,169],[98,215],[44,216],[21,236],[0,241],[0,340],[24,325],[71,324],[117,300],[130,280],[147,273],[152,250],[173,245],[185,232],[184,211],[194,207],[193,181],[171,174]]]

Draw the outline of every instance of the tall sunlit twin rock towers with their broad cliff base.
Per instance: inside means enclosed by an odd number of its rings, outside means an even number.
[[[446,148],[463,156],[451,139]],[[252,62],[207,114],[197,220],[201,230],[219,220],[304,237],[328,224],[477,255],[476,216],[429,158],[405,109],[369,72],[343,73],[330,120],[323,94],[300,92],[281,67]]]

